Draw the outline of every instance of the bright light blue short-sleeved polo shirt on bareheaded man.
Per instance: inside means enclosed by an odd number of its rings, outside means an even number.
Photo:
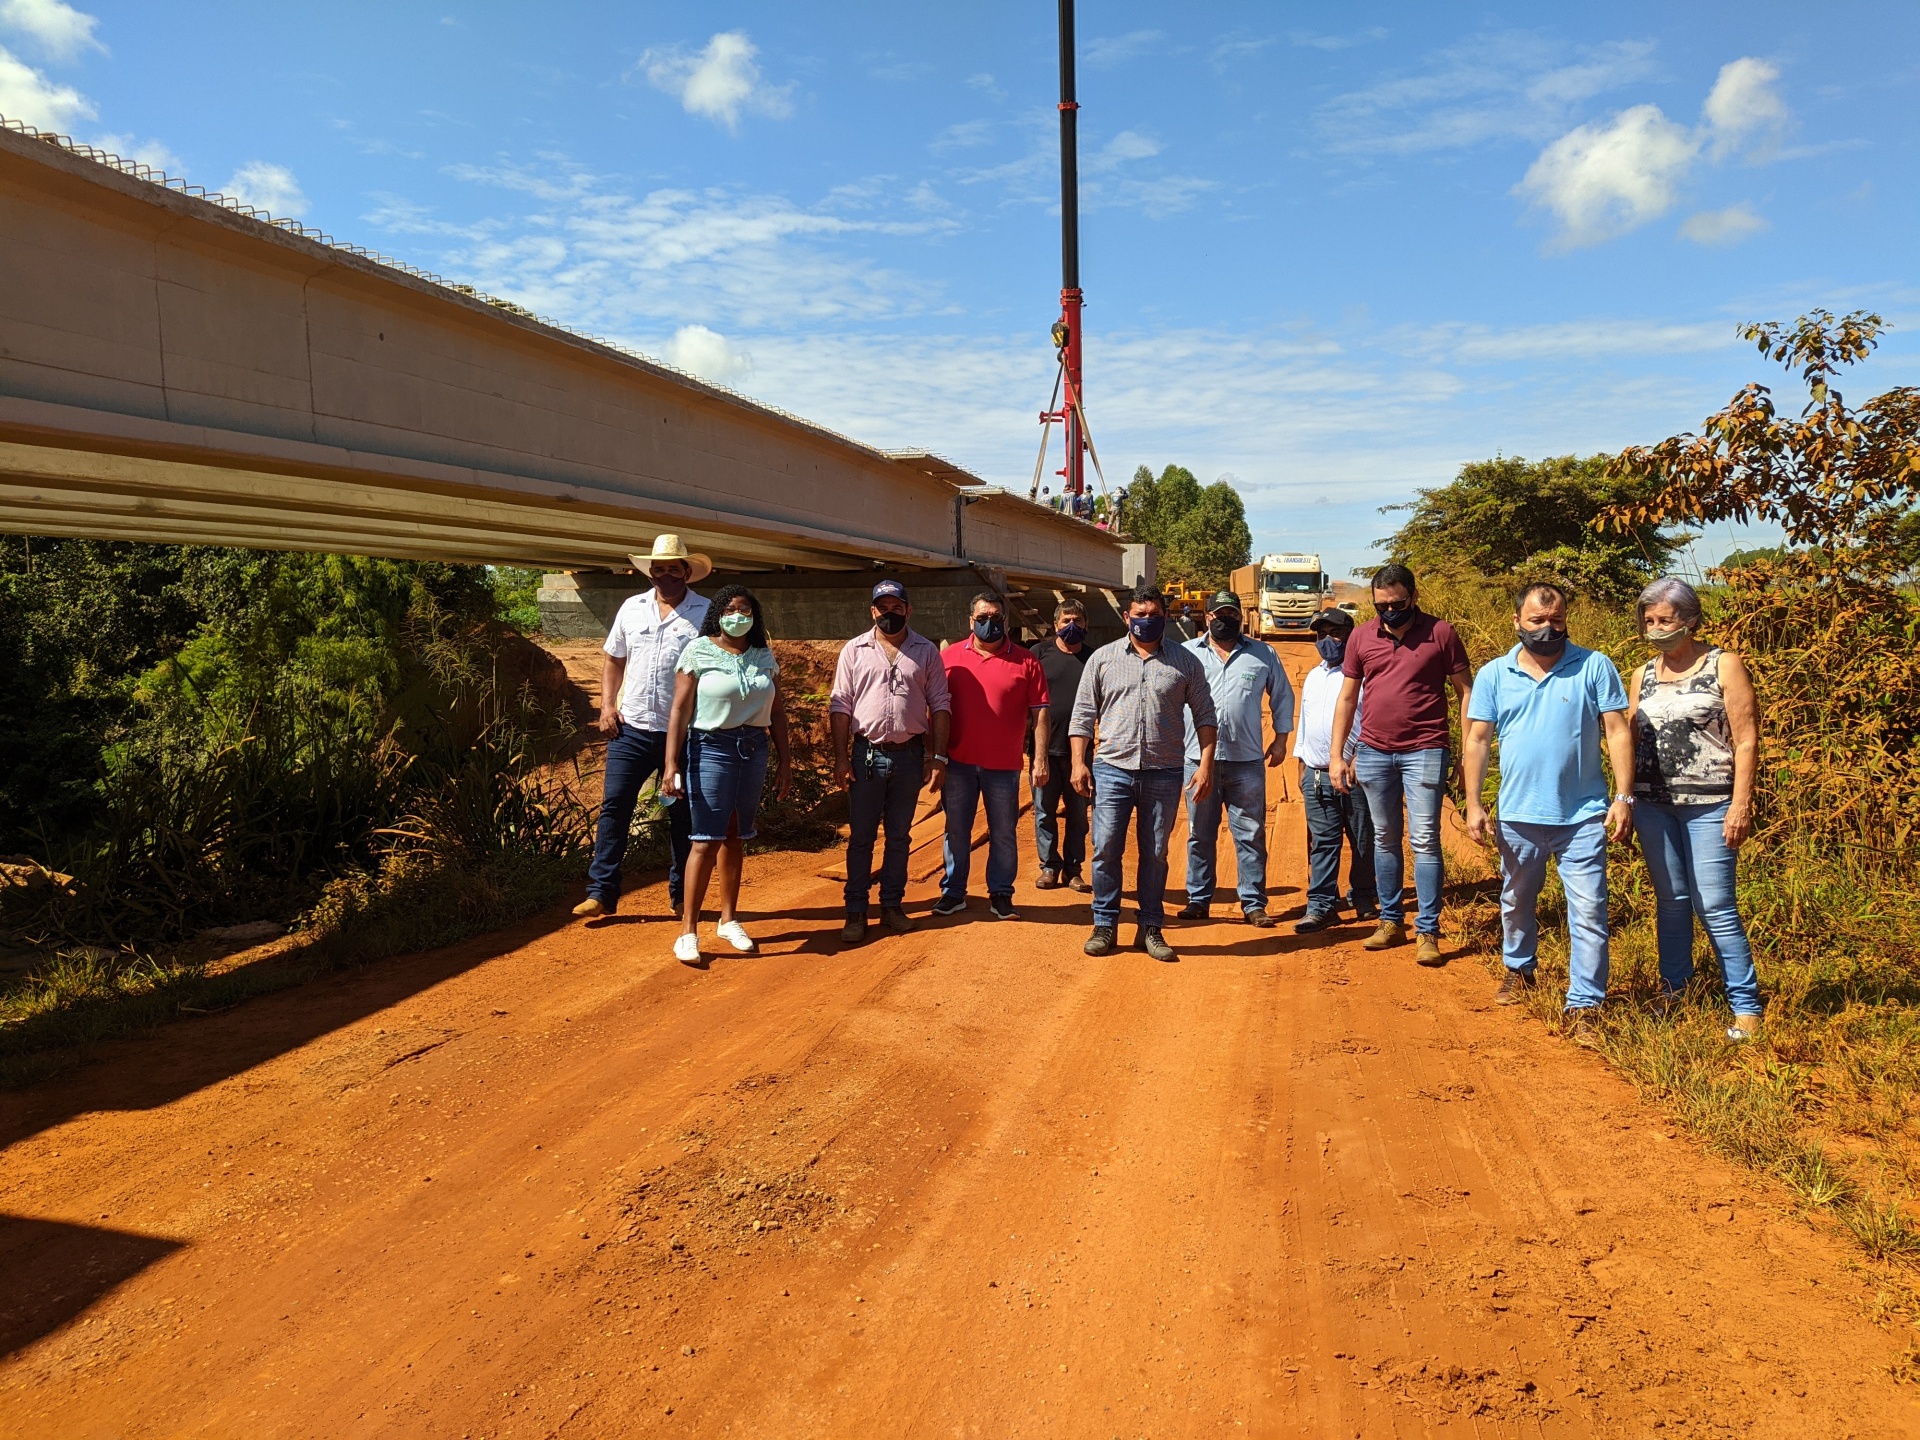
[[[1521,668],[1521,647],[1488,660],[1473,682],[1469,720],[1500,739],[1500,818],[1576,826],[1607,812],[1599,716],[1626,708],[1613,660],[1567,641],[1546,680]]]

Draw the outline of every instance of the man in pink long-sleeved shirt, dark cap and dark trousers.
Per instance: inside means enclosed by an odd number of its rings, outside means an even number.
[[[906,586],[881,580],[872,597],[874,628],[849,639],[833,666],[828,724],[833,728],[833,780],[847,787],[847,924],[841,941],[866,939],[874,879],[874,839],[887,831],[879,864],[879,918],[904,935],[906,856],[922,785],[947,783],[947,732],[952,701],[939,647],[906,628]],[[931,741],[933,753],[927,753]]]

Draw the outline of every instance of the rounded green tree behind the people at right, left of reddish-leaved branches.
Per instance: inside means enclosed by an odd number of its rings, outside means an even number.
[[[1411,511],[1411,516],[1375,543],[1415,574],[1465,568],[1498,580],[1559,580],[1597,599],[1628,599],[1688,538],[1657,520],[1596,528],[1601,515],[1653,493],[1651,482],[1611,467],[1607,455],[1475,461],[1461,467],[1453,484],[1384,507],[1382,513]]]

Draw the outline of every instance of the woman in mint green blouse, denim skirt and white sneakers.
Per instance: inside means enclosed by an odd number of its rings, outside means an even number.
[[[674,708],[666,722],[666,774],[660,793],[685,804],[693,818],[687,856],[685,912],[674,958],[697,970],[701,908],[707,883],[720,872],[720,924],[714,933],[739,952],[753,937],[733,914],[747,841],[755,837],[766,789],[766,751],[774,749],[774,793],[793,789],[787,745],[787,707],[780,697],[780,660],[760,616],[758,597],[745,586],[722,586],[701,634],[680,653]]]

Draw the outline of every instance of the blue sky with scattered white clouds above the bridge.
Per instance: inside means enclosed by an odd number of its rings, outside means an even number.
[[[1081,8],[1110,480],[1231,474],[1371,557],[1496,451],[1653,442],[1734,330],[1897,324],[1920,6]],[[0,0],[0,113],[1023,490],[1058,296],[1054,12]],[[1728,536],[1707,536],[1709,563]]]

